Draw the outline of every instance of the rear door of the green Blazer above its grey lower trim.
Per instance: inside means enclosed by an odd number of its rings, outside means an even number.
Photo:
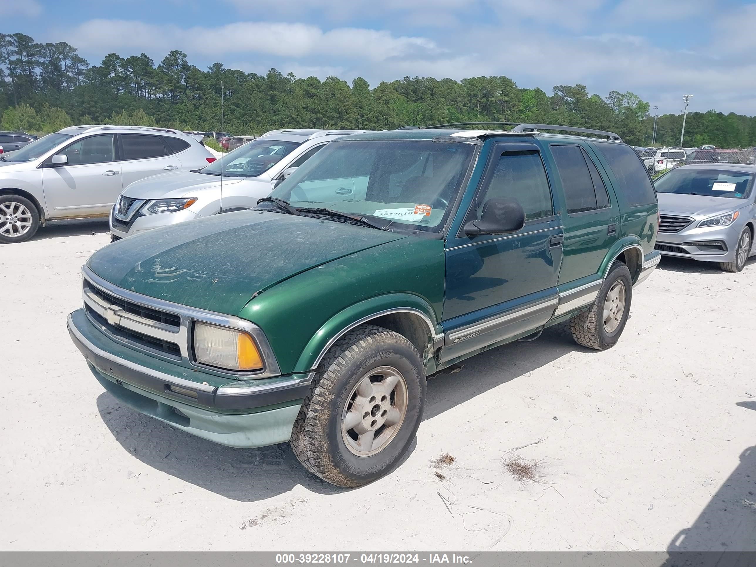
[[[559,142],[549,147],[562,188],[558,214],[565,235],[559,272],[563,293],[562,284],[569,289],[600,278],[601,264],[620,231],[620,214],[616,197],[607,190],[606,173],[596,167],[590,148]]]

